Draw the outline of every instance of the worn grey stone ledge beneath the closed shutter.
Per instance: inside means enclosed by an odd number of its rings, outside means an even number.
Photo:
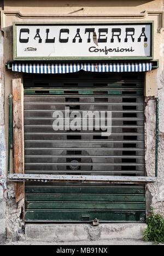
[[[26,241],[72,242],[110,239],[142,239],[144,223],[26,224]]]

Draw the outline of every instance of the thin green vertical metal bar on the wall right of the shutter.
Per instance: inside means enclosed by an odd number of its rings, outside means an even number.
[[[156,98],[155,177],[157,177],[157,171],[158,171],[158,147],[159,147],[159,98]]]

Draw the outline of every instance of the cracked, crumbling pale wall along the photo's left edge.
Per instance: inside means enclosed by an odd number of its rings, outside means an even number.
[[[10,28],[10,36],[8,44],[12,42],[13,33]],[[0,30],[0,243],[6,238],[17,241],[21,240],[24,233],[24,225],[22,223],[22,207],[24,201],[15,203],[15,184],[6,184],[7,178],[7,145],[8,145],[8,92],[4,90],[4,37],[6,34]],[[4,98],[7,98],[6,106]],[[7,118],[4,115],[7,114]],[[10,150],[10,167],[13,168],[13,152]],[[1,179],[7,186],[7,191],[1,185]]]

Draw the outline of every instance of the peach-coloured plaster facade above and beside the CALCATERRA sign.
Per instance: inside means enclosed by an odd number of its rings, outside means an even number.
[[[61,1],[4,1],[2,13],[3,29],[8,37],[8,30],[13,21],[19,22],[61,22],[61,21],[101,21],[101,22],[144,22],[154,21],[154,59],[159,59],[162,65],[162,0],[139,1],[98,1],[98,0],[61,0]],[[11,45],[5,48],[7,60],[13,59]],[[156,78],[161,77],[162,69],[159,68],[147,74],[145,96],[157,95]]]

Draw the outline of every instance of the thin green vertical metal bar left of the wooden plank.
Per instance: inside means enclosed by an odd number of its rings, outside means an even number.
[[[10,148],[11,147],[13,147],[13,96],[9,94],[8,173],[10,173]]]

